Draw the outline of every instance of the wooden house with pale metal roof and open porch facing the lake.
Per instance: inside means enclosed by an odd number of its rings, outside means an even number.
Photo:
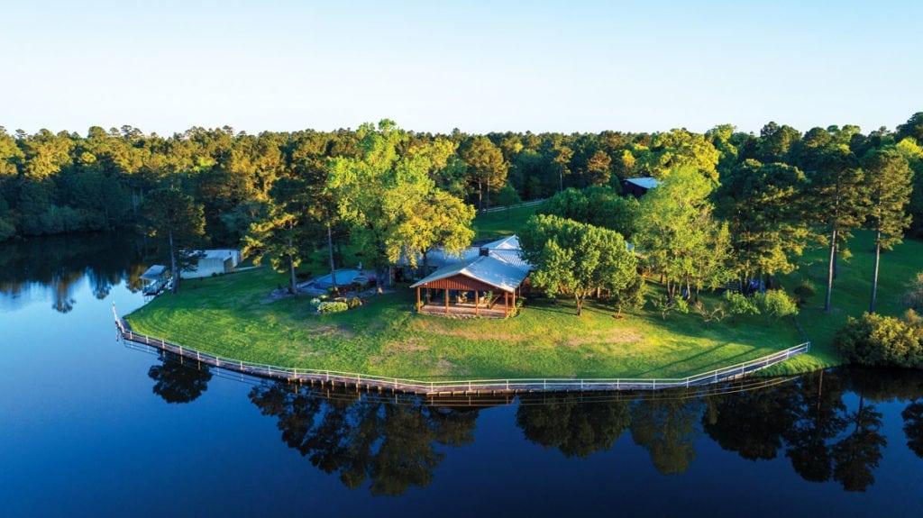
[[[418,312],[492,318],[512,314],[522,283],[532,270],[520,257],[519,239],[510,236],[474,250],[476,255],[442,265],[411,286],[416,288]]]

